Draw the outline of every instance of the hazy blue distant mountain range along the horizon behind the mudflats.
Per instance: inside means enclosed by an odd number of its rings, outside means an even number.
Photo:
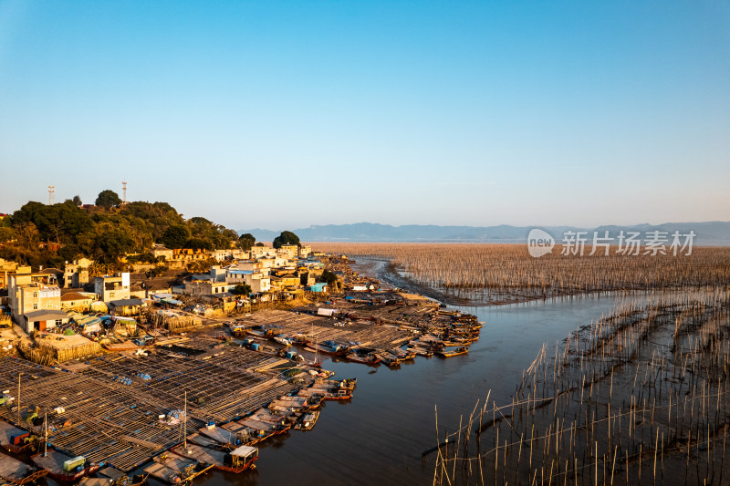
[[[666,222],[663,224],[635,224],[631,226],[605,225],[597,228],[579,228],[575,226],[438,226],[435,224],[406,224],[391,226],[373,222],[357,222],[354,224],[326,224],[309,226],[298,230],[290,230],[297,234],[302,242],[464,242],[464,243],[525,243],[527,233],[533,228],[540,228],[550,233],[556,240],[561,240],[566,231],[589,232],[592,238],[597,231],[602,236],[609,231],[615,236],[624,232],[660,231],[671,234],[675,231],[689,233],[694,231],[694,245],[730,245],[730,222]],[[240,230],[239,234],[251,233],[256,241],[271,242],[281,231],[272,230]],[[559,242],[558,242],[559,243]]]

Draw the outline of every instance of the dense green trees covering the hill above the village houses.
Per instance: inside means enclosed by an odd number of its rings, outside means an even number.
[[[85,256],[113,267],[127,253],[148,252],[153,243],[212,250],[242,241],[235,231],[205,218],[185,220],[167,202],[120,206],[114,191],[101,191],[96,208],[82,209],[79,203],[80,197],[56,204],[26,202],[0,221],[0,258],[62,266]]]

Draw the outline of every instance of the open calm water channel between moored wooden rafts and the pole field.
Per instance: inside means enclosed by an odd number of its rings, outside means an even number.
[[[357,377],[349,403],[328,402],[317,426],[260,447],[257,469],[240,475],[213,472],[198,484],[427,484],[433,481],[439,429],[455,429],[468,419],[477,400],[508,402],[522,371],[543,343],[555,345],[587,325],[624,297],[615,295],[556,299],[498,307],[463,307],[485,322],[468,355],[443,359],[417,357],[400,369],[326,361],[336,377]]]

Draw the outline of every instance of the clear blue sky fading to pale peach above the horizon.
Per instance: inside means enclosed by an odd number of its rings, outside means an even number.
[[[730,3],[0,0],[0,212],[730,221]]]

